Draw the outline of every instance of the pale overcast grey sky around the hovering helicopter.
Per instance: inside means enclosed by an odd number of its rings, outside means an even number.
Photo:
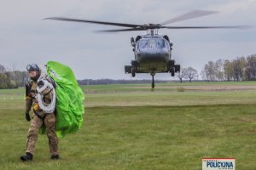
[[[162,23],[192,10],[218,11],[168,26],[255,26],[256,0],[22,0],[0,1],[0,64],[25,71],[26,65],[55,60],[72,68],[78,79],[151,79],[125,74],[134,54],[131,37],[145,31],[96,33],[119,29],[86,23],[43,20],[67,17],[129,24]],[[166,30],[172,59],[201,71],[208,61],[256,54],[256,30]],[[157,79],[172,80],[170,74]]]

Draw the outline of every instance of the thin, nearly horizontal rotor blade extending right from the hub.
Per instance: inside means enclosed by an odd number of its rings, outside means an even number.
[[[162,26],[167,29],[247,29],[252,26]]]

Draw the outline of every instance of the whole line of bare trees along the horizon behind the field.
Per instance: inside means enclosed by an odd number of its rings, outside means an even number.
[[[236,59],[218,59],[208,61],[200,73],[202,81],[255,81],[256,54],[241,56]],[[192,67],[181,68],[176,73],[179,82],[184,80],[198,80],[199,73]],[[0,89],[24,87],[28,80],[26,71],[11,71],[0,64]],[[113,83],[150,83],[151,80],[112,80],[112,79],[84,79],[78,81],[80,85],[113,84]],[[167,82],[157,81],[156,82]]]

